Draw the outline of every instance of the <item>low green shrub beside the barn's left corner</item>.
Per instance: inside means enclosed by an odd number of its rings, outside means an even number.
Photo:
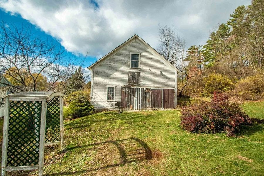
[[[75,119],[87,116],[94,112],[94,106],[89,101],[89,93],[86,91],[72,92],[69,96],[69,106],[65,111],[65,117]]]

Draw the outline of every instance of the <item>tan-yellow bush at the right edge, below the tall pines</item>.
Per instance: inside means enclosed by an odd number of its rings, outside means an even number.
[[[249,76],[236,83],[234,93],[244,100],[257,100],[263,98],[264,76],[261,74]]]

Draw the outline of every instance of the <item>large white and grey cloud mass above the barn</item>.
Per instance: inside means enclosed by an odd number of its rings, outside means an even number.
[[[138,34],[158,46],[158,24],[174,25],[187,47],[202,45],[218,23],[225,23],[237,6],[248,0],[153,1],[146,0],[9,0],[0,6],[20,14],[57,38],[70,52],[101,57]]]

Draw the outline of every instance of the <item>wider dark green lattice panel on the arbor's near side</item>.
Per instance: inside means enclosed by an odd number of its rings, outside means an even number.
[[[38,165],[41,101],[10,101],[7,166]]]

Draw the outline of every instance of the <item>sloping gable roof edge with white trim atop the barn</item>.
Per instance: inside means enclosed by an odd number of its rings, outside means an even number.
[[[123,48],[124,46],[130,44],[131,41],[138,39],[141,43],[143,43],[145,46],[147,46],[150,51],[152,52],[153,55],[156,55],[161,61],[163,61],[169,68],[171,68],[172,70],[175,70],[177,72],[181,72],[177,67],[175,67],[172,63],[170,63],[167,59],[165,59],[165,57],[163,57],[160,53],[158,53],[158,51],[156,51],[154,48],[152,48],[147,42],[145,42],[142,38],[140,38],[138,35],[133,35],[131,38],[129,38],[128,40],[126,40],[124,43],[122,43],[121,45],[119,45],[118,47],[116,47],[114,50],[110,51],[108,54],[106,54],[104,57],[100,58],[99,60],[97,60],[96,62],[94,62],[92,65],[90,65],[88,67],[89,70],[92,69],[92,67],[96,66],[99,63],[104,62],[104,60],[106,60],[106,58],[108,58],[110,55],[112,56],[114,53],[116,53],[117,51],[119,51],[121,48]]]

